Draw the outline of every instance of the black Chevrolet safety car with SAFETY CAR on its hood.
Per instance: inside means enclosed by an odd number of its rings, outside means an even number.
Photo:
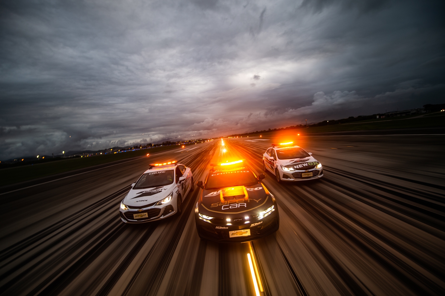
[[[201,239],[242,243],[267,236],[279,228],[275,197],[244,160],[211,164],[195,207]]]

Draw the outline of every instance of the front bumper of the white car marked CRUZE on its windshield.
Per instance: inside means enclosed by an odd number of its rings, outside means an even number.
[[[119,208],[119,214],[121,216],[121,220],[124,223],[146,223],[156,220],[161,220],[167,217],[170,217],[174,215],[174,213],[177,212],[177,198],[172,198],[168,203],[160,205],[160,206],[153,206],[149,208],[143,208],[141,212],[139,212],[137,209],[129,208],[128,210],[123,210],[122,208]],[[143,218],[134,218],[134,214],[147,214],[146,217]],[[145,215],[144,215],[145,216]]]

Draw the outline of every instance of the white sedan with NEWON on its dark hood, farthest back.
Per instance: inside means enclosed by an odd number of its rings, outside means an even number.
[[[263,154],[263,169],[275,174],[278,182],[319,179],[323,168],[311,152],[304,151],[293,142],[272,144]]]

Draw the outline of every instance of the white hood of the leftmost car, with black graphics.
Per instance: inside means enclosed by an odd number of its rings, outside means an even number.
[[[166,186],[158,186],[144,189],[130,189],[125,196],[123,203],[129,206],[140,206],[154,203],[164,199],[174,189],[176,184],[172,183]]]

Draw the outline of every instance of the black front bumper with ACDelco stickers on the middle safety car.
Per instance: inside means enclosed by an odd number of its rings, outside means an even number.
[[[268,236],[279,228],[279,215],[276,205],[274,211],[270,215],[267,215],[263,219],[242,225],[213,224],[199,219],[198,215],[195,216],[195,220],[199,237],[218,243],[245,243]],[[250,236],[230,237],[229,235],[229,232],[231,231],[247,229],[250,230]]]

